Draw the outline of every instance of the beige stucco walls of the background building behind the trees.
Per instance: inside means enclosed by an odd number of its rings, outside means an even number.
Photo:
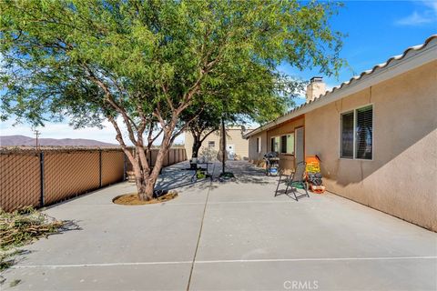
[[[246,138],[243,138],[241,128],[240,127],[232,127],[228,128],[226,130],[227,132],[227,139],[226,144],[227,146],[233,145],[234,146],[234,152],[237,159],[248,159],[249,157],[249,142]],[[198,154],[202,153],[202,150],[204,150],[206,147],[208,147],[209,142],[214,142],[214,146],[212,147],[215,151],[219,152],[219,146],[220,146],[220,131],[216,131],[205,139],[205,141],[202,143],[202,146],[200,147]],[[193,153],[193,135],[191,135],[189,132],[185,133],[185,149],[187,151],[188,159],[192,156]]]

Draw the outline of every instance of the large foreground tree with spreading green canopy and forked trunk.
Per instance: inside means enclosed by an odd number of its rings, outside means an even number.
[[[43,125],[67,116],[76,127],[108,120],[134,167],[138,195],[150,199],[163,157],[187,126],[180,115],[193,104],[213,102],[215,88],[252,65],[273,72],[289,62],[299,69],[320,66],[326,75],[337,72],[341,35],[329,25],[337,7],[252,0],[3,0],[2,118]],[[162,144],[151,169],[146,154],[157,129]]]

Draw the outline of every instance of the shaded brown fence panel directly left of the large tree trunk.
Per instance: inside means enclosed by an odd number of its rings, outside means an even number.
[[[123,181],[125,154],[102,151],[102,186]]]

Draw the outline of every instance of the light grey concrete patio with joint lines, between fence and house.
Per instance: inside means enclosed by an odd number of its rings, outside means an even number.
[[[158,186],[179,192],[167,203],[114,205],[135,191],[121,183],[50,207],[79,229],[26,246],[0,288],[437,289],[433,232],[332,194],[274,197],[277,178],[246,162],[226,183],[191,184],[186,166],[165,169]]]

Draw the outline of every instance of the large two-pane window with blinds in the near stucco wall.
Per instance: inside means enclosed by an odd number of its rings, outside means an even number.
[[[340,157],[371,160],[373,156],[373,106],[341,115]]]

